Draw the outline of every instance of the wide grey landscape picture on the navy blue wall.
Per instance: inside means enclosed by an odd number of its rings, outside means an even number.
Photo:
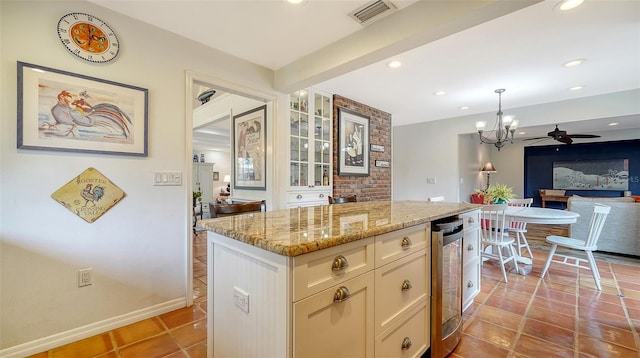
[[[553,189],[629,190],[629,159],[553,162]]]

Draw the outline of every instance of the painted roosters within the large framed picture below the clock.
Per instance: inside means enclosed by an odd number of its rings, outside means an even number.
[[[51,108],[51,117],[45,116],[39,124],[40,137],[102,142],[130,143],[131,118],[118,106],[110,103],[92,105],[87,90],[73,95],[69,90],[57,94],[57,103]]]

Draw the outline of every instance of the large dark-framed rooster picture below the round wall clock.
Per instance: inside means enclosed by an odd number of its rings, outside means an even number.
[[[149,91],[18,62],[18,148],[147,156]]]

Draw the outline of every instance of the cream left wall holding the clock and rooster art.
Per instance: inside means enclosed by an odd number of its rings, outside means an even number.
[[[55,28],[70,12],[93,14],[115,29],[122,48],[114,62],[88,64],[64,49]],[[2,1],[0,39],[0,355],[184,305],[191,193],[187,185],[152,182],[160,170],[182,171],[188,182],[186,70],[265,93],[272,71],[84,1]],[[149,156],[16,149],[16,61],[148,88]],[[93,224],[50,198],[88,167],[127,194]],[[76,272],[86,267],[94,269],[94,284],[77,288]]]

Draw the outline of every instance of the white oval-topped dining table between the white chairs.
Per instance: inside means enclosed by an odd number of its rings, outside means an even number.
[[[505,210],[505,218],[508,222],[520,221],[527,224],[573,224],[580,214],[568,210],[509,206]],[[520,263],[530,265],[532,260],[528,257],[518,256],[516,260]],[[523,270],[518,270],[523,274]]]

